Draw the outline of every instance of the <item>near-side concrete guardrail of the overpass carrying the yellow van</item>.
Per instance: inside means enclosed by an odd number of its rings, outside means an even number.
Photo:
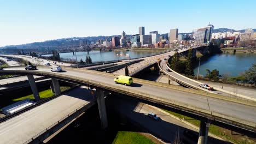
[[[87,71],[89,71],[89,70],[87,70]],[[93,72],[95,72],[95,71],[93,71]],[[194,105],[188,105],[186,103],[182,103],[180,101],[174,101],[173,99],[171,99],[171,97],[168,98],[168,99],[160,98],[156,95],[140,92],[140,91],[137,91],[135,89],[130,89],[129,87],[124,88],[124,87],[121,87],[121,86],[109,85],[108,83],[98,82],[98,81],[95,81],[95,80],[89,80],[89,79],[85,79],[85,78],[82,78],[82,77],[63,75],[63,74],[57,74],[57,73],[50,73],[50,72],[44,72],[44,71],[26,71],[26,70],[0,71],[0,74],[3,74],[3,73],[4,74],[7,74],[7,73],[9,73],[9,74],[20,74],[20,73],[22,73],[22,74],[49,76],[49,77],[53,77],[53,78],[58,79],[58,80],[63,80],[63,81],[71,82],[71,83],[76,83],[78,85],[84,85],[84,86],[90,85],[90,86],[93,86],[93,87],[103,88],[103,89],[106,89],[106,91],[116,92],[116,93],[119,93],[119,94],[125,94],[125,95],[129,95],[131,97],[135,97],[135,98],[138,98],[138,99],[151,101],[155,104],[164,105],[164,106],[168,106],[168,107],[173,107],[173,109],[177,109],[179,111],[186,111],[186,112],[189,112],[189,113],[191,113],[193,115],[196,115],[196,116],[201,116],[201,117],[204,117],[204,118],[213,119],[213,121],[218,121],[218,122],[221,122],[221,123],[224,123],[224,124],[233,125],[234,127],[246,129],[247,131],[253,131],[253,133],[256,132],[256,123],[254,123],[254,122],[248,122],[246,120],[238,119],[238,118],[232,117],[232,116],[225,116],[225,115],[222,115],[221,113],[214,112],[214,111],[210,110],[210,108],[209,108],[209,110],[206,110],[206,109],[202,109],[201,107],[197,107],[197,106],[194,106]],[[196,91],[194,89],[189,89],[189,91],[191,91],[191,92],[194,91],[197,94],[202,93],[201,91]],[[207,93],[205,93],[205,94],[207,94]],[[210,93],[208,96],[210,96],[210,95],[214,95],[214,94]],[[217,97],[218,96],[219,95],[217,95]],[[244,103],[244,102],[245,101],[242,101],[242,100],[237,101],[237,103]],[[251,101],[248,101],[248,102],[250,103]]]

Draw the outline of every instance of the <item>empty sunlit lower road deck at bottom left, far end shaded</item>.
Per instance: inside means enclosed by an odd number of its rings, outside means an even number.
[[[24,143],[80,106],[89,104],[85,87],[75,88],[45,104],[0,123],[0,143]]]

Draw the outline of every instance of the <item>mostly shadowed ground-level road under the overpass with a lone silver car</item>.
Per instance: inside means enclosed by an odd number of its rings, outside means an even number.
[[[123,98],[113,98],[110,99],[109,102],[109,105],[113,106],[116,111],[132,119],[132,121],[138,123],[141,125],[141,127],[147,129],[151,134],[155,135],[159,139],[164,140],[165,142],[172,143],[176,139],[177,134],[179,134],[182,139],[187,140],[189,143],[197,143],[196,136],[198,135],[199,130],[166,115],[165,113],[153,108],[152,106]],[[161,120],[157,122],[149,118],[147,116],[149,112],[155,113],[158,117],[161,118]],[[195,131],[194,141],[183,135],[184,130]],[[213,139],[209,136],[208,143],[226,142]]]

